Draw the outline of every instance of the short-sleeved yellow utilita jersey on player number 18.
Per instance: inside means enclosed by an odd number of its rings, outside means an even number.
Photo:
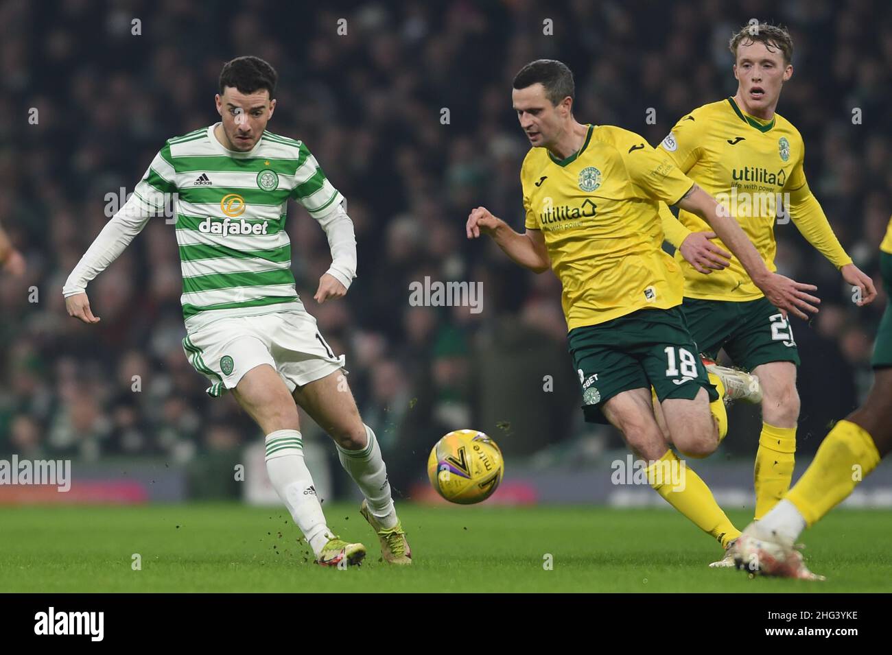
[[[619,127],[590,125],[566,160],[531,149],[520,179],[525,225],[545,239],[570,330],[681,303],[684,279],[662,248],[658,203],[679,201],[693,182],[664,152]]]

